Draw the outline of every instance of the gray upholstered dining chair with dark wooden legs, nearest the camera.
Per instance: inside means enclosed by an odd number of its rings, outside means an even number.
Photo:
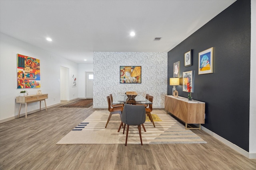
[[[138,130],[139,130],[139,134],[140,134],[140,143],[142,145],[140,125],[142,125],[144,131],[146,131],[145,127],[143,125],[143,123],[146,121],[146,108],[145,108],[145,106],[125,104],[124,109],[122,111],[121,120],[122,120],[122,123],[124,123],[124,130],[125,130],[125,126],[127,125],[125,146],[127,145],[129,125],[137,125],[138,126]],[[121,127],[121,125],[120,125],[120,127]],[[123,131],[123,134],[124,134],[124,131]]]

